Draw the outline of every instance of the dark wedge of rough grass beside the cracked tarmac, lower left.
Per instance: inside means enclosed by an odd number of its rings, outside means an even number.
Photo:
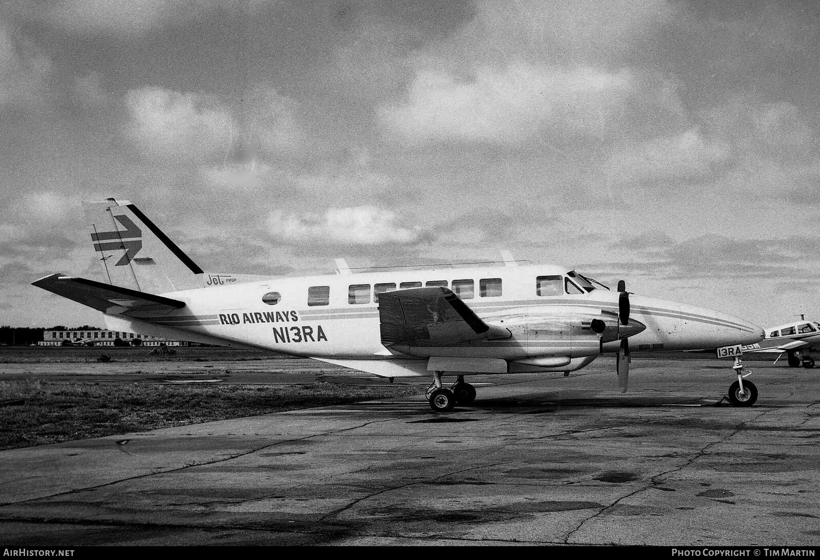
[[[410,386],[0,382],[0,449],[385,399]],[[15,401],[22,404],[13,404]]]

